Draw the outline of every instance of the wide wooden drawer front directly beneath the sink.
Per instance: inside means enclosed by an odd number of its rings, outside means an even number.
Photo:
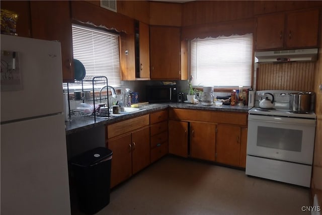
[[[114,136],[118,136],[120,134],[130,132],[132,130],[138,129],[146,125],[149,125],[148,114],[108,125],[107,136],[108,138],[111,138]]]

